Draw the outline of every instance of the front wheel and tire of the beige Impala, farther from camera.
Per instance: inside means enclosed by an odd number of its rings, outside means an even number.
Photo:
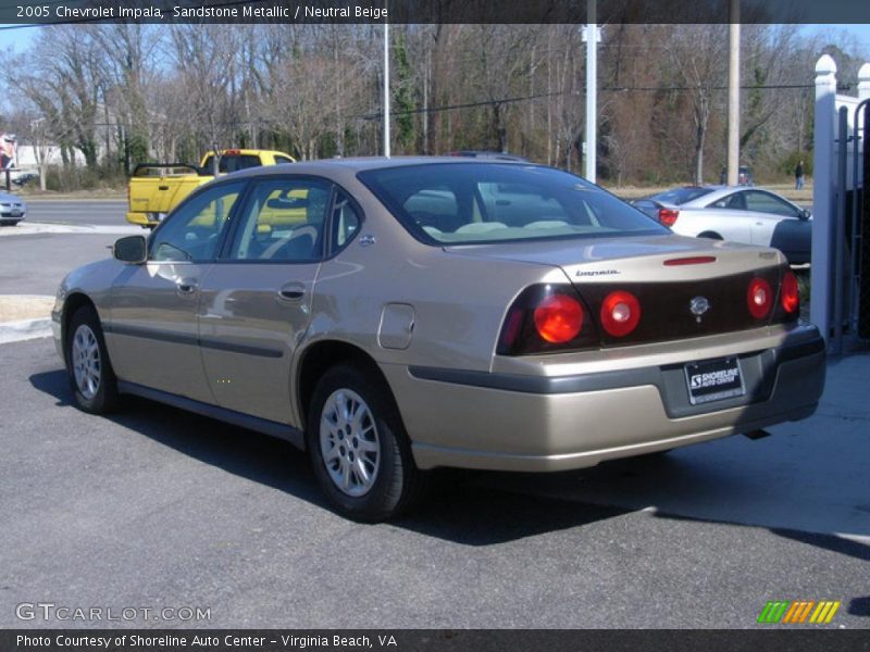
[[[64,351],[66,372],[76,405],[91,414],[111,412],[117,405],[117,380],[97,311],[83,305],[70,319]]]

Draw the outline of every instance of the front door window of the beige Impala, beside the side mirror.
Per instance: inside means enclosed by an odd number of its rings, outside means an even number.
[[[217,253],[221,231],[244,188],[244,181],[221,184],[179,205],[151,236],[150,260],[212,260]]]

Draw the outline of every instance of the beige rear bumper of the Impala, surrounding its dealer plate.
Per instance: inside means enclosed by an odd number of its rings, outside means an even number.
[[[682,362],[557,377],[382,368],[421,468],[555,472],[748,432],[816,410],[825,353],[815,327],[738,358],[746,394],[701,405],[689,403]]]

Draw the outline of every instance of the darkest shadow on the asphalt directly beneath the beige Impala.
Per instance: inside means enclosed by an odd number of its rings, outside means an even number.
[[[63,371],[34,374],[29,380],[57,399],[58,406],[73,409]],[[308,455],[282,440],[135,397],[124,397],[117,412],[92,418],[108,419],[200,462],[330,510]],[[488,487],[486,478],[493,475],[500,474],[437,473],[419,509],[384,527],[476,547],[582,527],[633,511]]]

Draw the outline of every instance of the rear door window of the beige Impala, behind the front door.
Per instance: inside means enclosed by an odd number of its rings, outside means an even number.
[[[258,181],[229,248],[229,260],[313,262],[322,258],[332,185],[323,179]]]

